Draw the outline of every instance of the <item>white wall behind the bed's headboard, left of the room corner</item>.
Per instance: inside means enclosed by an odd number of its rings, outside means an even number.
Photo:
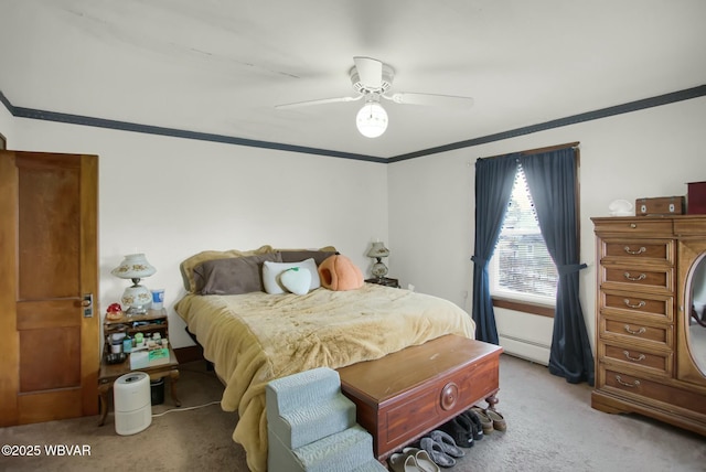
[[[110,270],[145,253],[175,347],[193,344],[173,311],[189,256],[333,245],[370,273],[370,243],[387,238],[384,164],[28,119],[14,130],[12,149],[99,155],[100,313],[126,287]]]

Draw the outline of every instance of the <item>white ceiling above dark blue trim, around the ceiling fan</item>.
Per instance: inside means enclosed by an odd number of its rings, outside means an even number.
[[[704,0],[0,0],[0,92],[15,107],[389,158],[706,84]],[[470,110],[384,101],[277,110],[353,93],[353,56],[391,92],[472,96]]]

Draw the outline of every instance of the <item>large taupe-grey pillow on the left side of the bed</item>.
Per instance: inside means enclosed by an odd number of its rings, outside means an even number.
[[[206,260],[194,267],[195,293],[240,294],[265,291],[263,262],[280,260],[279,253]]]

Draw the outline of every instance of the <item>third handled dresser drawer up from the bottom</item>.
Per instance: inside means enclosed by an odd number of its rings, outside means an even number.
[[[671,324],[650,325],[640,321],[601,317],[599,334],[601,341],[618,341],[634,346],[652,346],[671,350],[673,347],[673,328]]]

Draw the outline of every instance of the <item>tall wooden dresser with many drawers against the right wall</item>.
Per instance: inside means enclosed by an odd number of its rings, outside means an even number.
[[[591,406],[706,435],[706,336],[699,350],[691,331],[694,276],[706,268],[706,215],[591,219],[598,267]]]

